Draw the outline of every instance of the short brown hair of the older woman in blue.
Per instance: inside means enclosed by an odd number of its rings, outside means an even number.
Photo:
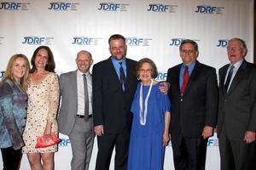
[[[151,77],[156,78],[158,75],[156,65],[154,64],[154,61],[152,59],[148,59],[148,58],[140,59],[137,62],[137,65],[135,66],[135,71],[134,71],[134,74],[136,75],[136,77],[139,77],[139,71],[141,70],[144,63],[148,63],[149,65],[151,65],[152,67]]]

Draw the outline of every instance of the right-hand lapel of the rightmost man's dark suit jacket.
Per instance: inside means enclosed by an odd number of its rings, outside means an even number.
[[[238,71],[236,72],[236,76],[234,77],[233,81],[231,82],[230,84],[230,88],[229,88],[229,91],[228,91],[228,95],[230,93],[232,93],[232,91],[236,88],[236,86],[238,85],[239,82],[241,82],[241,79],[243,77],[245,77],[244,73],[245,73],[245,70],[246,70],[246,67],[247,67],[247,63],[246,61],[244,60],[241,64],[241,66],[239,67]]]

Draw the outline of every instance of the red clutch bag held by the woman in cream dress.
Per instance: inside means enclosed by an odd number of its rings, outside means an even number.
[[[48,146],[52,146],[55,144],[58,144],[59,142],[61,142],[61,139],[58,139],[55,136],[55,133],[50,133],[50,138],[45,139],[44,136],[39,136],[37,139],[37,144],[35,146],[35,148],[45,148]]]

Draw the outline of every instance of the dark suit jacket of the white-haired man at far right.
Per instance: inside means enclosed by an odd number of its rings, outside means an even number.
[[[246,131],[256,132],[256,65],[244,60],[231,82],[228,94],[224,94],[228,68],[229,65],[224,65],[218,71],[218,136],[225,129],[230,139],[242,140]]]

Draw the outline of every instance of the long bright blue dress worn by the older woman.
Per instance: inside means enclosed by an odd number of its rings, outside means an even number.
[[[140,87],[138,84],[136,94],[131,105],[133,122],[128,156],[128,170],[161,170],[163,169],[165,147],[163,133],[165,129],[165,112],[170,111],[171,103],[168,96],[159,90],[160,84],[154,84],[148,99],[148,114],[145,125],[140,123]],[[144,102],[149,86],[143,86]]]

